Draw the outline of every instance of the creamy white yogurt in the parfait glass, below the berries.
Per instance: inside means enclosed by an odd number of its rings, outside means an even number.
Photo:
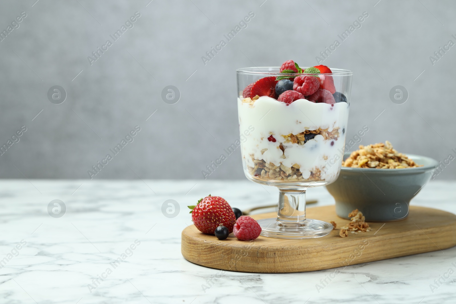
[[[238,98],[238,114],[241,133],[248,130],[249,126],[254,127],[247,140],[241,143],[244,166],[254,167],[250,156],[254,155],[255,160],[264,160],[276,166],[283,164],[291,167],[298,164],[305,179],[315,168],[321,170],[321,180],[331,182],[337,178],[345,145],[345,134],[342,133],[342,129],[347,126],[347,103],[331,105],[299,99],[287,105],[274,98],[261,96],[250,105]],[[323,136],[316,135],[306,144],[299,145],[285,143],[281,136],[319,128],[328,129],[328,132],[339,128],[338,139],[324,139]],[[276,142],[268,140],[270,135]],[[280,144],[285,148],[283,153],[279,148]],[[263,149],[267,150],[262,154]],[[282,154],[285,154],[285,159],[282,158]]]

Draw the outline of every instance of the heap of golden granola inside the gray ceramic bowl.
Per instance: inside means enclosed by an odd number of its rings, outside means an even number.
[[[404,169],[416,168],[417,165],[407,155],[398,153],[393,145],[386,140],[385,143],[360,145],[350,156],[342,162],[344,167],[376,168],[376,169]]]

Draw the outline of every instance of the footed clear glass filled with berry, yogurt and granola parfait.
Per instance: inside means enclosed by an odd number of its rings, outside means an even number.
[[[306,218],[306,189],[328,185],[340,173],[352,72],[325,66],[237,70],[244,173],[279,188],[277,218],[259,220],[261,235],[322,237],[328,222]]]

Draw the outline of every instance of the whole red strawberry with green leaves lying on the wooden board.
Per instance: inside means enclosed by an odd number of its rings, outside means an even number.
[[[192,221],[195,227],[202,233],[214,234],[219,224],[233,232],[236,216],[228,202],[220,196],[206,196],[198,201],[196,206],[188,206],[192,209]]]

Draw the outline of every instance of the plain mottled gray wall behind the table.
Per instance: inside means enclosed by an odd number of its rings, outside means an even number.
[[[362,144],[388,139],[400,152],[456,156],[456,46],[430,62],[456,43],[455,1],[2,1],[0,29],[22,11],[20,27],[0,41],[0,143],[22,125],[27,131],[0,156],[1,178],[88,178],[139,125],[95,179],[202,179],[238,139],[235,69],[288,59],[316,65],[364,11],[362,27],[323,62],[354,72],[347,138],[367,125]],[[134,27],[91,66],[87,57],[136,11]],[[204,65],[201,57],[249,11],[248,27]],[[65,102],[48,100],[54,85]],[[176,104],[161,98],[168,85],[181,93]],[[407,102],[390,100],[396,85],[408,90]],[[455,163],[437,178],[454,179]],[[243,178],[239,151],[209,176]]]

